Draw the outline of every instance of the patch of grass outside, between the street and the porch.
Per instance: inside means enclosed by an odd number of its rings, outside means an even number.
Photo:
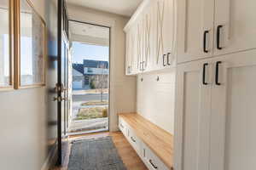
[[[96,119],[107,117],[106,111],[108,111],[107,107],[92,107],[92,108],[82,108],[79,109],[79,114],[75,118],[75,120],[86,120],[86,119]]]

